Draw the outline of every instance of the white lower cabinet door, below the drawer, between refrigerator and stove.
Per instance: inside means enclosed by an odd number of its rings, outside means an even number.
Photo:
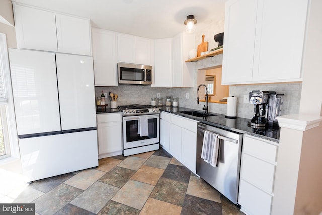
[[[99,154],[122,150],[122,123],[107,122],[97,125]]]

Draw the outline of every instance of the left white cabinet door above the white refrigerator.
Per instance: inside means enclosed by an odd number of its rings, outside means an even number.
[[[17,47],[57,52],[55,13],[13,4]]]

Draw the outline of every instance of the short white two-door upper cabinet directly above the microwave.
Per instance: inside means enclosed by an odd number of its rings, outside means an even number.
[[[118,62],[152,65],[152,40],[129,34],[117,34]]]

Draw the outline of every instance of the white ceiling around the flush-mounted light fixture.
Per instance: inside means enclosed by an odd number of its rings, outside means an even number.
[[[159,39],[185,30],[188,15],[196,31],[221,21],[225,0],[15,0],[27,5],[91,19],[92,27]]]

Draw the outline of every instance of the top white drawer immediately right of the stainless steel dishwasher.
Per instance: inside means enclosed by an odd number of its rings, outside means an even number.
[[[277,146],[244,135],[243,153],[248,153],[269,162],[276,162]]]

